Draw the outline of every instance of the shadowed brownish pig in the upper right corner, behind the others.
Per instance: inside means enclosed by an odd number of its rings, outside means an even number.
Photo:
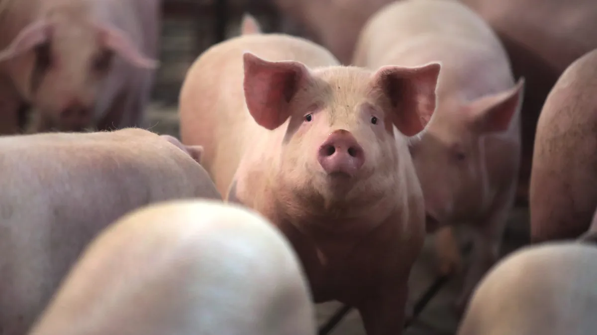
[[[519,200],[528,201],[538,116],[564,70],[597,48],[597,1],[461,1],[493,27],[508,51],[514,75],[527,80]]]

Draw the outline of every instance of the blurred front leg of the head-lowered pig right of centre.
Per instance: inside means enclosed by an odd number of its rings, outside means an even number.
[[[513,194],[514,190],[512,188],[509,194]],[[513,204],[513,196],[509,198],[509,201],[503,201],[500,206],[494,207],[487,220],[472,227],[474,240],[470,265],[464,276],[463,290],[456,301],[456,309],[460,314],[463,314],[476,285],[499,258],[501,238]]]

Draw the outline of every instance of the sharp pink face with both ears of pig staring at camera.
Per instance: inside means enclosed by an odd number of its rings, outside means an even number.
[[[325,199],[381,196],[407,159],[404,135],[435,108],[439,63],[420,67],[309,70],[244,54],[244,88],[256,122],[280,135],[278,182]],[[285,128],[278,129],[282,125]],[[405,154],[404,154],[405,153]]]

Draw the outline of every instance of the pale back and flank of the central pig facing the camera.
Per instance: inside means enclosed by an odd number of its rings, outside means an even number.
[[[257,125],[245,104],[245,51],[269,61],[300,61],[310,69],[338,64],[322,46],[279,34],[239,36],[199,56],[181,88],[180,133],[184,144],[204,147],[202,164],[221,194],[226,193],[244,151],[272,133]]]

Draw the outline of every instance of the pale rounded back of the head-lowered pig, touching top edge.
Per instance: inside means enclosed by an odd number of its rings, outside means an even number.
[[[391,54],[393,48],[429,36],[437,36],[438,41],[459,38],[501,49],[496,33],[466,6],[456,1],[405,0],[381,8],[368,20],[359,37],[353,63],[382,66],[380,58]]]

